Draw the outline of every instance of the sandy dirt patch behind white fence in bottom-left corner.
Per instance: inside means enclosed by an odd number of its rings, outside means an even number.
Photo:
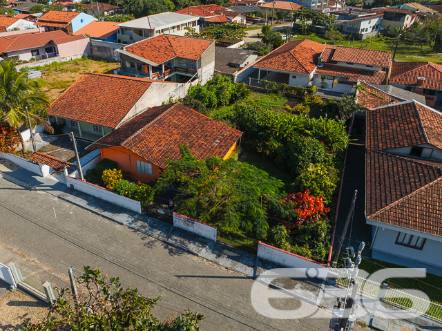
[[[0,330],[19,330],[26,323],[42,320],[48,306],[15,290],[0,298]]]

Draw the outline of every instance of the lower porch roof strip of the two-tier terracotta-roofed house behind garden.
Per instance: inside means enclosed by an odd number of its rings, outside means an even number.
[[[358,68],[349,68],[346,66],[336,66],[334,64],[324,64],[318,67],[316,74],[338,76],[348,78],[350,82],[361,80],[369,84],[382,84],[385,80],[385,71],[364,70]]]

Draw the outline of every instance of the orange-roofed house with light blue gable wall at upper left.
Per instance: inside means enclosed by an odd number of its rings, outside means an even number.
[[[85,12],[50,10],[39,18],[37,25],[43,26],[47,31],[62,30],[72,35],[92,21],[97,21],[97,19]]]

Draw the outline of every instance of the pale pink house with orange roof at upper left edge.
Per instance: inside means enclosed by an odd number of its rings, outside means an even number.
[[[73,57],[90,54],[89,39],[70,36],[63,31],[23,33],[0,37],[0,56],[18,56],[22,61]]]

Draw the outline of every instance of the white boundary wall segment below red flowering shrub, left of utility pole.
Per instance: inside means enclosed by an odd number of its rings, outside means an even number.
[[[258,243],[258,258],[265,258],[266,260],[285,265],[286,267],[299,268],[299,269],[316,269],[309,272],[309,276],[316,276],[324,281],[327,278],[328,268],[320,263],[299,256],[294,253],[287,252],[285,250],[267,245],[265,243]],[[307,271],[308,272],[308,271]]]

